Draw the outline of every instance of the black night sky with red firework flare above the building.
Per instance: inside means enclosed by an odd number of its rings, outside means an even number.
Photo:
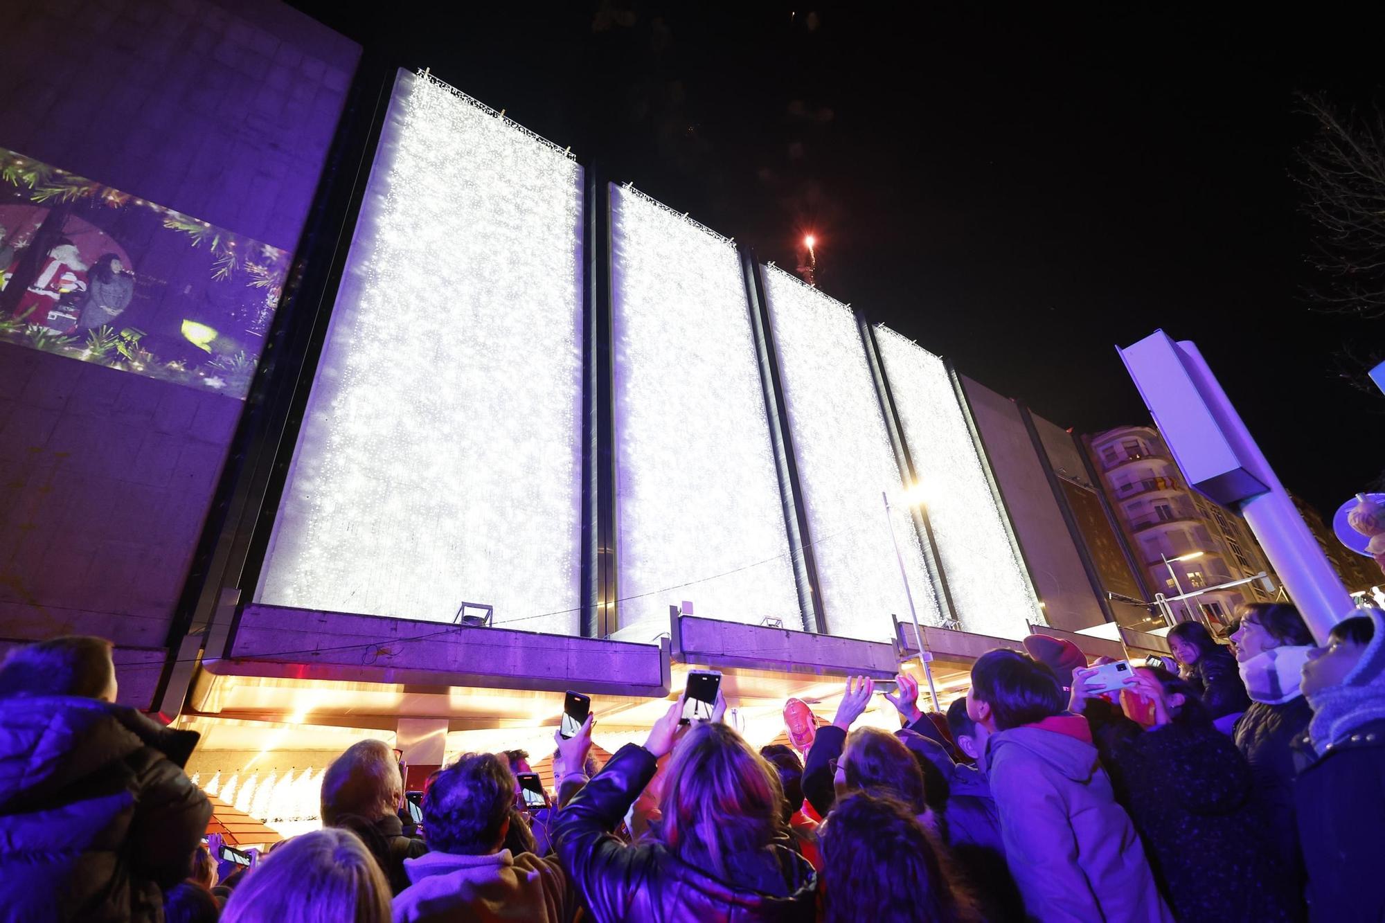
[[[1385,322],[1310,309],[1289,179],[1313,130],[1294,91],[1368,103],[1378,22],[1320,6],[295,6],[762,261],[792,269],[814,233],[825,292],[1061,425],[1148,423],[1115,345],[1162,327],[1198,342],[1324,514],[1385,467],[1385,396],[1334,362]]]

